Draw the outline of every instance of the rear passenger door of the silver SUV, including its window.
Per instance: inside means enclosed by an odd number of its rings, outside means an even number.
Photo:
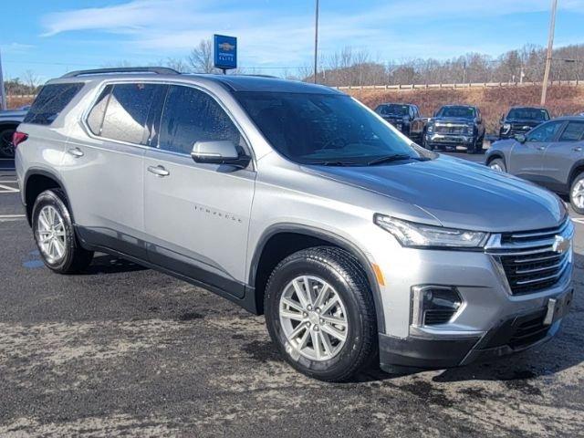
[[[146,258],[143,155],[147,121],[161,86],[105,87],[89,111],[88,135],[68,141],[62,174],[82,238]]]

